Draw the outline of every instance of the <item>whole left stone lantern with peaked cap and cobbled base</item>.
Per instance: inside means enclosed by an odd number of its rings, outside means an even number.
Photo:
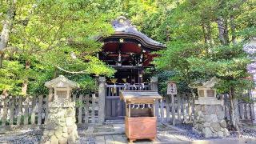
[[[78,131],[75,124],[74,102],[71,101],[71,90],[78,87],[64,76],[46,82],[50,89],[49,112],[46,116],[46,129],[42,136],[42,143],[77,143]],[[52,94],[54,90],[54,94]]]

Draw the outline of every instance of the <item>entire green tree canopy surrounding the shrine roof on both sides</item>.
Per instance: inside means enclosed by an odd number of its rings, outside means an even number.
[[[94,90],[94,76],[114,74],[97,58],[102,43],[94,37],[112,34],[110,22],[120,15],[166,43],[154,61],[158,74],[182,86],[215,76],[220,92],[251,86],[242,47],[256,32],[253,0],[2,0],[0,6],[0,91],[8,94],[46,94],[43,83],[58,74]]]

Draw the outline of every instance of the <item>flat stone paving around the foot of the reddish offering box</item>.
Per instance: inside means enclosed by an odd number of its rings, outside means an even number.
[[[154,142],[150,140],[138,140],[134,143],[188,143],[190,140],[179,134],[174,128],[158,124],[158,135]],[[104,126],[89,126],[80,137],[88,138],[89,143],[119,144],[128,143],[125,135],[124,124],[106,124]],[[89,140],[90,139],[90,140]],[[89,140],[89,141],[88,141]]]

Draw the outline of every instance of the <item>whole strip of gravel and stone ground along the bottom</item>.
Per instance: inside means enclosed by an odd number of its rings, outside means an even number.
[[[124,134],[124,124],[108,123],[103,126],[88,126],[78,130],[80,143],[82,144],[122,144],[128,143]],[[9,134],[0,134],[0,143],[30,144],[39,143],[42,137],[42,130],[18,131]],[[251,138],[218,138],[204,139],[196,137],[190,131],[181,130],[167,124],[158,124],[158,134],[154,142],[150,140],[138,140],[135,144],[150,143],[196,143],[196,144],[256,144],[254,137]]]

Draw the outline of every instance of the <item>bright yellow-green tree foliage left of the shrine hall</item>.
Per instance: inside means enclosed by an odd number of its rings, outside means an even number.
[[[92,91],[92,77],[114,74],[95,54],[102,43],[95,42],[93,37],[114,32],[110,26],[113,15],[106,14],[100,2],[18,1],[0,69],[0,91],[21,94],[22,84],[28,82],[29,94],[46,94],[44,82],[59,74],[77,80],[83,90]],[[0,21],[5,20],[9,5],[2,1],[2,6]]]

